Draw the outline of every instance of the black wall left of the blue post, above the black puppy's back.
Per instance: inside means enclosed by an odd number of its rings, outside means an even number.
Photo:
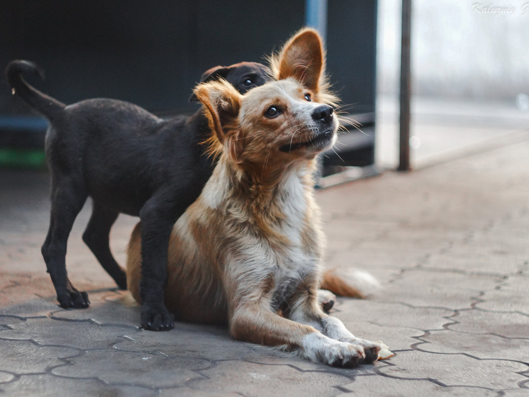
[[[206,69],[263,60],[303,26],[304,2],[3,0],[0,15],[2,68],[39,63],[38,86],[66,103],[103,96],[160,110],[188,107]]]

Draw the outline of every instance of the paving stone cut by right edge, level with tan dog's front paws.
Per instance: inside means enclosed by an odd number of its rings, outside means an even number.
[[[490,334],[462,334],[450,330],[430,331],[416,349],[432,353],[464,353],[478,358],[529,362],[529,338],[506,339]]]

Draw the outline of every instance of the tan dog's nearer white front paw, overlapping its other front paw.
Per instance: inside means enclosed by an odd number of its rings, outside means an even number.
[[[361,345],[341,342],[317,332],[303,338],[302,349],[306,358],[333,367],[354,367],[366,358]]]

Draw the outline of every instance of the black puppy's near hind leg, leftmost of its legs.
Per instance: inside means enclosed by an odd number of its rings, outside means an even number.
[[[87,308],[88,294],[80,292],[68,280],[66,272],[66,245],[74,220],[86,201],[82,183],[63,179],[53,181],[50,228],[42,245],[42,256],[63,308]]]

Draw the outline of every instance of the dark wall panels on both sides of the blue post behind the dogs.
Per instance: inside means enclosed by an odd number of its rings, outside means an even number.
[[[376,2],[329,0],[328,12],[331,82],[351,113],[372,114]],[[37,62],[47,78],[30,82],[67,104],[111,97],[160,114],[191,112],[202,72],[264,61],[304,20],[305,0],[2,0],[0,68]],[[29,113],[0,80],[0,135],[2,116]]]

